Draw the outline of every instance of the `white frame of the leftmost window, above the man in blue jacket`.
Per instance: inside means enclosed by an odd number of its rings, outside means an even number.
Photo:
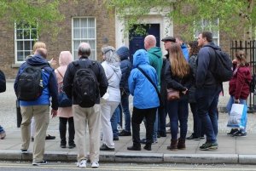
[[[26,56],[32,54],[32,47],[33,47],[34,43],[38,41],[38,37],[36,39],[34,39],[32,37],[31,32],[33,29],[37,30],[37,28],[32,28],[32,29],[17,28],[17,24],[15,23],[15,64],[22,64],[23,62],[25,62]],[[24,31],[30,31],[30,33],[27,36],[22,34],[22,38],[17,38],[19,36],[17,31],[22,31],[23,33],[24,33]],[[24,37],[29,37],[29,38],[24,38]],[[25,41],[30,41],[31,49],[25,49]],[[23,42],[23,49],[18,49],[18,42]],[[19,52],[23,52],[22,58],[24,60],[18,61],[18,53]]]

